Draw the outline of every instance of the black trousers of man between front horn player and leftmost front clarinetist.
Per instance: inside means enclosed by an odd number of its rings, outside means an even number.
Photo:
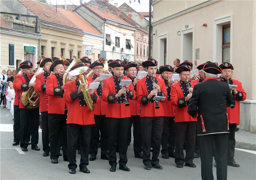
[[[100,138],[101,156],[108,155],[108,125],[106,115],[94,115],[95,124],[92,125],[90,154],[97,156]]]

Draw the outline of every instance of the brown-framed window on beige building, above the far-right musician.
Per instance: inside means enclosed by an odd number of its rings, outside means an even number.
[[[222,62],[230,62],[230,24],[222,26]]]

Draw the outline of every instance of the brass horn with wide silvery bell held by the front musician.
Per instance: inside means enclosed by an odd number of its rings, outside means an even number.
[[[94,104],[92,101],[92,97],[90,94],[88,94],[88,89],[89,89],[88,83],[87,83],[85,76],[83,75],[83,73],[85,71],[87,71],[87,69],[88,69],[87,66],[83,66],[83,67],[76,68],[76,69],[70,71],[69,74],[71,76],[76,76],[76,79],[78,79],[78,81],[81,85],[81,90],[84,94],[84,100],[87,104],[87,107],[89,107],[92,111],[94,111]]]

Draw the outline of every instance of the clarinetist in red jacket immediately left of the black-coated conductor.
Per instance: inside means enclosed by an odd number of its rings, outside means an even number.
[[[183,64],[183,65],[182,65]],[[188,114],[189,99],[192,96],[194,83],[186,83],[190,80],[190,66],[181,63],[176,69],[180,74],[180,82],[171,86],[171,102],[176,106],[175,112],[175,163],[177,168],[185,166],[195,168],[193,163],[196,138],[196,119]],[[186,140],[186,157],[184,158],[183,146]]]

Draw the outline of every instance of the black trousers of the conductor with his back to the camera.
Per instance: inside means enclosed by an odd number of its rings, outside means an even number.
[[[228,153],[228,133],[217,133],[198,136],[201,176],[202,180],[213,180],[212,174],[212,145],[215,143],[215,158],[217,164],[217,179],[227,179],[227,153]]]

